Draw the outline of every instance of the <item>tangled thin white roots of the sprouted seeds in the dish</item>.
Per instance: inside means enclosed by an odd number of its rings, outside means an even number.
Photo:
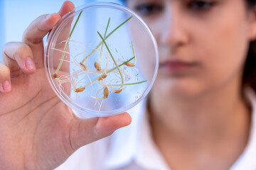
[[[67,42],[66,40],[60,42],[64,43]],[[116,82],[116,84],[119,84],[121,82],[121,77],[120,77],[120,73],[117,72],[117,70],[112,70],[110,72],[111,69],[113,69],[115,67],[115,65],[113,64],[112,68],[109,69],[109,64],[110,64],[110,57],[108,55],[108,53],[105,53],[103,51],[101,51],[100,49],[95,49],[94,47],[91,46],[87,46],[90,47],[92,50],[95,50],[95,52],[100,52],[100,54],[102,54],[102,57],[105,57],[105,67],[102,69],[98,69],[96,70],[95,68],[88,68],[88,63],[89,63],[89,57],[87,57],[87,60],[85,60],[84,63],[80,63],[78,62],[78,58],[80,58],[80,56],[82,56],[82,58],[85,58],[83,56],[86,56],[87,53],[85,52],[86,48],[85,45],[82,44],[82,42],[77,42],[74,40],[69,40],[69,42],[75,42],[78,43],[82,46],[83,51],[79,52],[76,55],[71,55],[70,52],[66,52],[63,50],[58,50],[53,48],[53,50],[59,51],[59,52],[65,52],[65,54],[70,56],[70,60],[65,60],[65,59],[60,59],[63,62],[68,62],[70,64],[74,64],[76,67],[75,69],[73,69],[72,74],[70,74],[69,76],[65,76],[65,75],[60,75],[60,77],[55,78],[56,81],[58,82],[58,86],[60,90],[64,90],[63,84],[65,83],[70,83],[71,87],[73,88],[73,90],[76,92],[76,100],[78,100],[78,93],[82,92],[85,90],[86,86],[91,86],[91,94],[90,97],[91,98],[95,98],[95,104],[94,106],[97,104],[99,109],[98,109],[98,113],[100,113],[100,110],[102,108],[102,103],[105,101],[105,99],[107,98],[107,96],[109,95],[109,93],[114,92],[114,93],[119,93],[122,90],[124,90],[125,88],[122,89],[114,89],[112,86],[107,86],[108,84],[111,84],[111,82]],[[124,61],[120,61],[117,60],[118,65],[124,63]],[[129,81],[130,79],[132,79],[131,76],[129,76],[129,74],[125,71],[127,69],[136,69],[134,67],[127,67],[125,66],[125,64],[121,67],[120,71],[121,73],[124,75],[124,81]],[[95,79],[91,79],[90,75],[95,74],[98,77],[102,76],[102,75],[106,75],[105,77],[102,77],[102,79],[98,79],[97,81],[95,81]],[[114,75],[114,77],[112,76]],[[59,76],[59,75],[58,75]],[[110,78],[108,78],[110,77]],[[111,80],[110,80],[111,79]],[[90,81],[89,84],[85,85],[82,84],[83,81]],[[95,84],[99,84],[100,87],[99,89],[97,89],[97,93],[96,96],[92,96],[92,94],[94,93],[95,89]],[[108,91],[107,88],[110,88],[111,91]],[[103,92],[103,96],[99,97],[100,92]],[[101,100],[101,102],[99,103],[99,100]]]

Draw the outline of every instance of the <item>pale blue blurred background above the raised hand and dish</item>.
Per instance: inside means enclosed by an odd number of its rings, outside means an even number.
[[[0,0],[0,49],[4,43],[21,41],[23,31],[29,23],[45,13],[58,12],[64,0]],[[75,7],[92,2],[114,2],[121,0],[71,0]],[[0,56],[2,61],[2,55]]]

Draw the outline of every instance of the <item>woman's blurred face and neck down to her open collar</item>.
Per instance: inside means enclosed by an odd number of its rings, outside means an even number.
[[[152,137],[171,169],[229,169],[255,136],[255,94],[245,94],[248,86],[256,89],[255,55],[246,57],[256,35],[255,4],[127,1],[159,45],[148,111]],[[256,169],[253,160],[240,159],[245,162],[240,169]]]

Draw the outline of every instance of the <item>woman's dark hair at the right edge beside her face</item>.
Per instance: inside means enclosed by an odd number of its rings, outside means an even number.
[[[249,9],[255,8],[256,0],[246,0]],[[256,40],[250,42],[247,58],[245,60],[242,85],[250,86],[256,91]]]

